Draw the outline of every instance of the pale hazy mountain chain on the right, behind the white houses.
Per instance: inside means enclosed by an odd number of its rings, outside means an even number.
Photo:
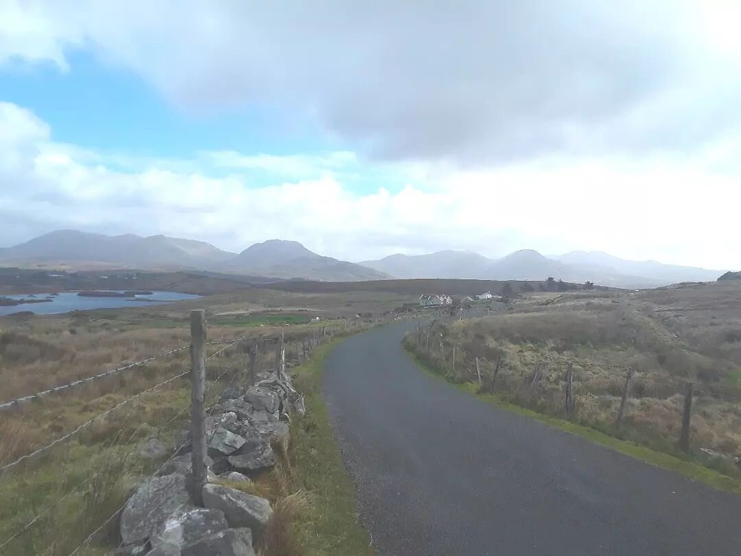
[[[655,261],[636,262],[606,253],[574,251],[557,257],[545,257],[523,249],[501,259],[488,259],[471,251],[439,251],[428,255],[391,255],[377,261],[360,263],[399,278],[459,279],[529,279],[546,277],[566,282],[590,280],[599,285],[619,288],[653,288],[677,282],[702,282],[716,279],[720,271],[708,271]]]

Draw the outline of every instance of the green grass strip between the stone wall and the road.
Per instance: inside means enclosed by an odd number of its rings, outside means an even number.
[[[307,408],[305,417],[294,420],[291,427],[294,472],[309,496],[299,527],[308,555],[373,556],[376,552],[358,519],[355,487],[322,398],[324,362],[340,341],[316,348],[307,363],[293,369],[296,389],[305,395]]]

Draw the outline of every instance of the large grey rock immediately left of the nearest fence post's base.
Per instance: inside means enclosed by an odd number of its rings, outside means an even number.
[[[173,473],[150,477],[126,503],[121,514],[124,544],[144,544],[165,521],[193,509],[185,475]]]

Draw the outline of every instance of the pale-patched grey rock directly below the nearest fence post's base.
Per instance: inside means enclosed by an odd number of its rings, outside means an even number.
[[[196,543],[203,537],[229,529],[224,512],[218,509],[196,508],[185,514],[170,517],[150,538],[151,545],[157,549],[177,549]]]

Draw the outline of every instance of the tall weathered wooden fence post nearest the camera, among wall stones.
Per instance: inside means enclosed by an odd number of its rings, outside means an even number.
[[[201,491],[206,484],[206,311],[190,311],[190,496],[196,506],[203,506]]]

